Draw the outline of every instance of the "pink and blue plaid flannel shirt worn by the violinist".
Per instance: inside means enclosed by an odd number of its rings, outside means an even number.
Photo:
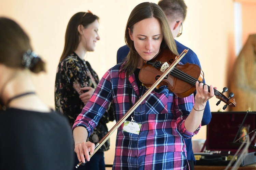
[[[133,104],[140,90],[144,94],[147,88],[137,86],[134,74],[127,79],[125,71],[119,73],[120,68],[122,65],[117,64],[103,75],[73,129],[84,126],[90,135],[111,101],[116,121],[130,109],[128,88]],[[154,89],[134,111],[133,119],[142,124],[139,135],[122,131],[123,124],[119,126],[113,169],[186,169],[183,138],[194,136],[201,128],[200,125],[193,133],[185,129],[184,122],[193,105],[193,94],[178,98],[166,86]]]

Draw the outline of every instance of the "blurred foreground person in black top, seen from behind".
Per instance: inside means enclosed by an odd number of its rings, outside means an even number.
[[[68,121],[42,102],[32,81],[44,65],[24,30],[0,17],[0,169],[72,169]]]

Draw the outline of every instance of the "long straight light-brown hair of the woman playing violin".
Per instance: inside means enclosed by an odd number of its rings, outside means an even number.
[[[163,34],[163,40],[160,48],[168,48],[174,54],[178,55],[176,44],[170,30],[170,26],[168,24],[167,18],[163,13],[162,9],[155,3],[151,3],[151,2],[140,3],[132,10],[126,24],[125,42],[130,48],[130,52],[127,56],[127,62],[124,64],[124,67],[120,71],[126,69],[127,78],[136,70],[140,60],[140,55],[136,51],[133,41],[130,39],[128,28],[132,32],[134,24],[136,24],[137,22],[143,19],[153,18],[153,17],[158,19],[158,21],[160,22],[160,26]]]

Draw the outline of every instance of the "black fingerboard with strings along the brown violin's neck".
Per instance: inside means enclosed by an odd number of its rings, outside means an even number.
[[[161,65],[163,64],[162,62],[160,62],[160,63],[161,63]],[[157,67],[158,67],[158,68],[161,68],[161,65],[157,65]],[[184,81],[186,81],[186,82],[188,82],[188,83],[190,83],[190,84],[192,84],[192,85],[196,85],[196,82],[197,82],[197,81],[198,81],[199,83],[203,83],[203,82],[197,80],[196,78],[194,78],[194,77],[188,75],[187,73],[184,73],[183,71],[181,71],[181,70],[179,70],[179,69],[177,69],[177,68],[175,68],[175,67],[173,68],[172,71],[170,71],[170,74],[171,74],[171,75],[173,74],[173,76],[174,76],[174,77],[177,77],[177,78],[180,77],[181,79],[183,79]],[[203,85],[207,85],[207,84],[203,83]],[[210,91],[210,86],[207,85],[207,87],[208,87],[208,91]],[[219,92],[219,91],[216,90],[216,89],[213,89],[213,90],[214,90],[214,94],[215,94],[216,96],[222,97],[223,99],[225,99],[226,101],[228,101],[227,97],[224,96],[221,92]]]

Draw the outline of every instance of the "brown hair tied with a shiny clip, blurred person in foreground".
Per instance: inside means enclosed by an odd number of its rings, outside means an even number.
[[[28,68],[34,73],[45,71],[45,63],[38,56],[31,57],[34,54],[24,30],[15,21],[0,17],[0,63],[13,68]],[[25,55],[31,58],[29,66]]]

